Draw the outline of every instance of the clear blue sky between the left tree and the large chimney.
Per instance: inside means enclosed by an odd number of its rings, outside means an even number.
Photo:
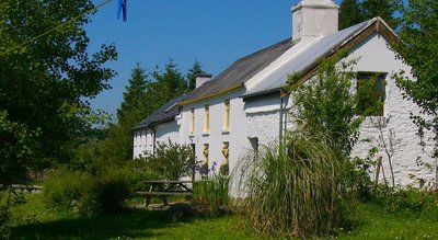
[[[103,5],[85,26],[92,54],[115,44],[118,59],[106,67],[117,76],[111,90],[91,100],[115,114],[131,69],[147,71],[173,59],[186,73],[195,60],[217,76],[233,61],[291,36],[290,8],[298,0],[127,0],[128,19],[117,20],[117,1]],[[93,0],[97,5],[104,0]]]

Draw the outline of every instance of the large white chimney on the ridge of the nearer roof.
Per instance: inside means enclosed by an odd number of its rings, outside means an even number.
[[[332,0],[302,0],[291,8],[292,41],[337,32],[339,5]]]

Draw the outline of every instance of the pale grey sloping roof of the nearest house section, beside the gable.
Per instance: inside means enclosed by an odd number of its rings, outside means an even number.
[[[378,21],[377,18],[323,37],[310,46],[307,50],[300,53],[291,60],[284,64],[278,70],[274,71],[263,81],[260,81],[260,83],[254,85],[252,89],[246,90],[246,92],[243,94],[243,98],[278,90],[286,84],[287,78],[290,73],[306,71],[315,65],[321,57],[326,56],[334,48],[342,45],[346,39],[349,39],[351,36],[356,35],[376,21]]]

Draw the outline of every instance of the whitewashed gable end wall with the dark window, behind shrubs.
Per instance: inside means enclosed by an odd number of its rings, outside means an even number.
[[[410,72],[410,68],[400,59],[395,58],[393,52],[387,47],[387,41],[379,34],[369,36],[366,41],[351,50],[349,59],[360,57],[355,66],[355,71],[383,71],[388,72],[385,85],[384,113],[385,118],[391,117],[388,126],[383,127],[383,136],[389,141],[389,130],[394,129],[395,138],[401,142],[393,156],[394,179],[396,184],[411,184],[414,181],[410,178],[416,175],[431,181],[435,172],[427,168],[416,164],[417,158],[424,162],[434,164],[433,160],[422,151],[418,145],[419,138],[415,135],[417,127],[410,119],[410,113],[417,114],[418,107],[413,102],[403,99],[401,90],[395,85],[391,78],[393,72],[403,69]],[[354,149],[354,156],[365,157],[368,150],[376,146],[379,147],[379,128],[372,121],[377,117],[367,117],[360,130],[360,139]],[[382,148],[380,148],[382,149]],[[378,152],[383,158],[385,176],[390,176],[390,168],[387,155],[383,150]],[[389,180],[391,182],[391,180]]]

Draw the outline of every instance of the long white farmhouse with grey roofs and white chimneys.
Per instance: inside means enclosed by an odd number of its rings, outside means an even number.
[[[396,38],[393,30],[374,18],[338,31],[338,5],[332,0],[302,0],[291,11],[291,38],[237,60],[212,79],[199,76],[195,90],[141,122],[134,130],[134,157],[145,151],[153,153],[158,141],[170,139],[192,145],[197,159],[208,161],[210,167],[227,162],[232,171],[249,149],[269,145],[292,127],[286,123],[293,105],[290,95],[281,90],[287,77],[300,72],[304,81],[313,76],[320,59],[345,49],[350,53],[348,59],[358,59],[354,70],[360,78],[380,76],[384,95],[381,116],[391,116],[383,135],[387,138],[393,129],[400,139],[393,156],[396,183],[412,183],[411,175],[433,180],[431,171],[416,163],[418,158],[430,161],[418,146],[417,128],[410,119],[417,106],[402,98],[391,79],[401,69],[410,72],[388,47]],[[366,156],[372,146],[378,146],[378,135],[379,129],[368,117],[354,155]],[[378,156],[383,158],[388,178],[387,155],[381,150]]]

